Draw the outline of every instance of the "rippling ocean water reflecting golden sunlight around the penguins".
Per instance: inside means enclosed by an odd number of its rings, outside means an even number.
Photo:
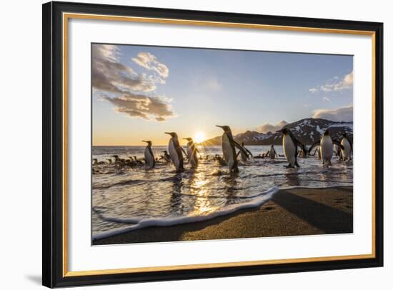
[[[106,161],[111,155],[144,157],[144,146],[93,146],[92,158]],[[274,146],[283,155],[282,146]],[[159,157],[166,146],[153,146]],[[247,146],[254,156],[269,146]],[[215,216],[260,206],[278,189],[352,186],[352,161],[336,156],[332,166],[322,166],[316,156],[298,159],[299,169],[286,169],[284,156],[278,159],[239,161],[239,173],[229,174],[212,157],[222,156],[221,146],[199,148],[202,159],[197,169],[185,161],[185,171],[176,173],[163,160],[154,169],[137,166],[117,169],[114,164],[93,165],[92,239],[146,226],[169,226],[212,219]],[[208,159],[206,159],[208,156]],[[113,158],[112,158],[113,159]]]

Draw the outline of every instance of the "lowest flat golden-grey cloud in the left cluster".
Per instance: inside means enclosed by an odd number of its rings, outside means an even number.
[[[166,121],[167,118],[174,116],[169,101],[158,96],[127,93],[116,97],[104,96],[103,99],[114,104],[117,113],[134,118]]]

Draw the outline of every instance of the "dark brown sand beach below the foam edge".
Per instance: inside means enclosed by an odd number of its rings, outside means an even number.
[[[352,186],[282,190],[258,209],[209,221],[138,229],[93,244],[352,233],[352,191]]]

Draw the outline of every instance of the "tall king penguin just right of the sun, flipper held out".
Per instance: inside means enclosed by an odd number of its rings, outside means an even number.
[[[234,137],[232,136],[232,131],[229,126],[216,126],[224,130],[224,134],[222,134],[222,153],[224,154],[224,160],[229,166],[229,172],[239,172],[235,146],[240,149],[242,154],[245,156],[248,156],[248,153],[239,143],[237,143],[237,141],[234,141]]]

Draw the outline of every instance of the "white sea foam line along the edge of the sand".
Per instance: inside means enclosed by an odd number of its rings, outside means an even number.
[[[111,231],[105,231],[100,234],[94,234],[92,238],[93,240],[104,239],[109,236],[114,236],[116,234],[124,234],[128,231],[134,231],[136,229],[146,228],[149,226],[174,226],[176,224],[189,224],[197,221],[207,221],[209,219],[214,219],[218,216],[225,216],[227,214],[232,214],[242,209],[253,209],[262,206],[262,204],[269,201],[269,199],[272,199],[272,196],[277,191],[279,191],[279,188],[277,186],[274,186],[271,189],[264,191],[262,194],[255,196],[251,201],[247,201],[242,204],[231,204],[229,206],[225,206],[223,209],[219,209],[218,211],[213,211],[209,214],[202,214],[198,216],[176,216],[176,217],[166,217],[166,218],[158,218],[158,219],[141,219],[141,218],[119,219],[113,217],[104,217],[101,215],[101,219],[105,219],[107,221],[130,223],[133,225],[127,226],[126,228],[122,228],[122,229],[115,229]]]

